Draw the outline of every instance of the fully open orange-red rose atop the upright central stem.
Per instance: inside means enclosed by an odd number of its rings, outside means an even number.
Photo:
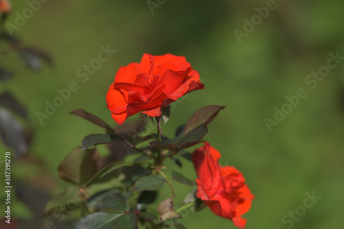
[[[120,67],[107,91],[107,107],[112,118],[122,124],[141,111],[160,116],[161,109],[197,89],[204,85],[184,56],[144,54],[141,63]]]

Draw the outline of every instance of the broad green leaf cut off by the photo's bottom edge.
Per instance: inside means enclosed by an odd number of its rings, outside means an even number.
[[[74,223],[71,229],[134,229],[136,221],[136,215],[131,212],[96,212]]]

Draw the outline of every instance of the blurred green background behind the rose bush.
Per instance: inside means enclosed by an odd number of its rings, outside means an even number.
[[[222,153],[221,164],[244,174],[256,197],[244,215],[246,228],[341,228],[344,63],[331,69],[314,89],[305,78],[326,65],[330,52],[344,56],[344,1],[276,1],[277,8],[241,43],[234,30],[244,31],[244,19],[250,21],[257,14],[255,8],[266,6],[267,1],[163,2],[152,14],[146,1],[50,0],[14,31],[25,45],[39,47],[54,59],[53,67],[45,66],[38,74],[15,56],[3,60],[16,76],[1,83],[0,89],[12,91],[28,107],[36,129],[30,153],[45,162],[47,173],[52,174],[52,179],[30,186],[47,195],[60,193],[66,183],[58,179],[58,164],[85,135],[102,133],[70,111],[85,109],[115,124],[105,94],[118,68],[140,62],[144,53],[171,53],[186,56],[206,89],[175,105],[164,133],[172,136],[175,127],[200,107],[227,106],[210,125],[206,140]],[[28,3],[12,1],[12,6],[13,12],[22,14]],[[15,20],[12,13],[8,21]],[[98,58],[101,45],[117,52],[83,83],[76,72]],[[41,125],[36,111],[44,112],[45,100],[52,102],[58,96],[56,89],[67,88],[71,81],[80,89]],[[308,96],[269,131],[264,120],[273,119],[275,107],[281,109],[288,102],[285,97],[297,95],[300,88]],[[0,151],[6,150],[0,146]],[[105,148],[100,147],[100,152],[105,155]],[[183,162],[182,172],[195,179],[193,166]],[[178,169],[173,164],[169,167]],[[12,173],[12,179],[30,182],[41,172],[12,162]],[[179,203],[190,188],[174,185]],[[163,190],[159,199],[170,195],[169,188]],[[283,223],[281,218],[303,206],[305,193],[313,191],[321,199],[292,226]],[[34,217],[18,199],[12,203],[12,216]],[[235,228],[208,208],[189,212],[182,223],[187,228]]]

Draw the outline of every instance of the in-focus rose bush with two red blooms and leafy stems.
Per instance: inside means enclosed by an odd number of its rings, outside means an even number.
[[[123,124],[139,112],[156,118],[144,117],[112,128],[84,109],[72,111],[105,133],[86,135],[81,146],[72,150],[58,166],[58,175],[70,186],[47,203],[45,215],[54,216],[59,206],[75,200],[77,194],[80,200],[73,210],[80,210],[83,217],[71,229],[186,228],[181,222],[187,215],[184,210],[197,212],[205,206],[244,228],[246,219],[241,215],[248,211],[254,196],[243,175],[233,166],[219,166],[217,161],[221,155],[207,142],[192,156],[187,151],[204,142],[208,125],[226,106],[202,107],[185,124],[176,127],[173,136],[162,133],[162,120],[166,124],[171,118],[169,104],[203,88],[200,76],[183,56],[144,54],[141,63],[121,67],[107,92],[107,107],[114,120]],[[148,125],[156,127],[156,134],[147,135],[142,131]],[[96,147],[100,144],[109,149],[106,156],[98,153]],[[173,171],[165,163],[168,159],[175,163]],[[197,182],[175,171],[183,168],[184,161],[180,159],[193,162]],[[174,182],[197,185],[185,193],[177,206],[174,201],[180,193],[174,191]],[[160,201],[160,192],[165,192],[162,186],[169,186],[171,196]],[[69,199],[67,203],[66,199]],[[154,206],[156,201],[160,201],[158,207]]]

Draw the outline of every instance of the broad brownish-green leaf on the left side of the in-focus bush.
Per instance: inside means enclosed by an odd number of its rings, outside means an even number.
[[[97,157],[96,149],[83,151],[78,147],[58,166],[58,175],[67,182],[83,185],[97,173]]]

